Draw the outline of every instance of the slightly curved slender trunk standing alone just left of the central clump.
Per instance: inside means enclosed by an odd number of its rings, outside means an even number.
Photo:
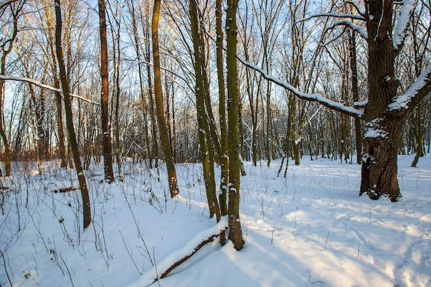
[[[162,96],[162,79],[160,73],[160,52],[158,41],[158,23],[160,18],[160,1],[154,0],[153,21],[151,23],[151,34],[153,42],[153,61],[154,61],[154,97],[156,99],[156,116],[158,122],[158,129],[160,134],[160,142],[162,144],[163,157],[165,158],[167,175],[169,181],[169,191],[171,198],[174,198],[180,189],[178,189],[176,169],[174,158],[172,158],[171,145],[169,142],[169,134],[165,120],[165,107],[163,105]]]

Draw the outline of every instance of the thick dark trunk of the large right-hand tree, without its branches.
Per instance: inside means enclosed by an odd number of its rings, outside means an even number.
[[[386,3],[386,1],[385,1]],[[376,200],[386,195],[392,202],[401,196],[397,180],[397,152],[403,116],[385,114],[397,95],[395,51],[388,33],[392,6],[383,8],[383,1],[370,1],[368,32],[368,103],[364,109],[366,134],[361,167],[361,191]],[[383,17],[382,17],[383,14]]]

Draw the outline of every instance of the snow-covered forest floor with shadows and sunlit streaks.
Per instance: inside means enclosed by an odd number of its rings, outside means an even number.
[[[399,157],[399,202],[359,197],[360,167],[327,159],[290,164],[286,178],[252,167],[241,182],[246,244],[218,240],[152,286],[431,286],[431,157],[410,167]],[[290,162],[291,163],[291,162]],[[160,169],[125,163],[125,180],[101,183],[87,171],[93,224],[82,230],[73,170],[52,165],[39,176],[26,164],[2,180],[0,284],[145,286],[216,229],[199,164],[178,164],[180,198],[165,195]]]

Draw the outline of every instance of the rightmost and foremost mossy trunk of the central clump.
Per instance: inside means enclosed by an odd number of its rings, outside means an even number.
[[[227,1],[227,96],[229,120],[229,239],[236,250],[244,246],[240,222],[240,134],[238,130],[238,67],[236,11],[238,0]]]

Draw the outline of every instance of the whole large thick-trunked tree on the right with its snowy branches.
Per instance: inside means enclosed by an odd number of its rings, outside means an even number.
[[[269,81],[281,85],[293,92],[299,98],[318,103],[350,116],[361,118],[366,123],[364,135],[363,161],[361,171],[361,188],[359,194],[366,193],[371,199],[378,199],[381,195],[396,201],[401,193],[397,180],[397,152],[399,149],[400,133],[406,117],[412,109],[431,92],[431,64],[419,75],[415,83],[405,93],[398,92],[399,82],[395,77],[395,59],[399,55],[406,39],[406,28],[412,5],[401,8],[396,22],[395,34],[392,34],[393,6],[399,5],[394,1],[366,1],[366,10],[361,11],[355,5],[355,14],[322,13],[314,17],[341,18],[335,21],[326,31],[343,26],[359,32],[368,44],[368,100],[364,103],[364,110],[347,107],[342,103],[322,96],[321,94],[306,94],[295,87],[271,77],[264,70],[242,61],[254,70],[258,70]],[[354,25],[351,19],[362,21],[366,30],[360,25]],[[394,96],[398,95],[398,96]]]

